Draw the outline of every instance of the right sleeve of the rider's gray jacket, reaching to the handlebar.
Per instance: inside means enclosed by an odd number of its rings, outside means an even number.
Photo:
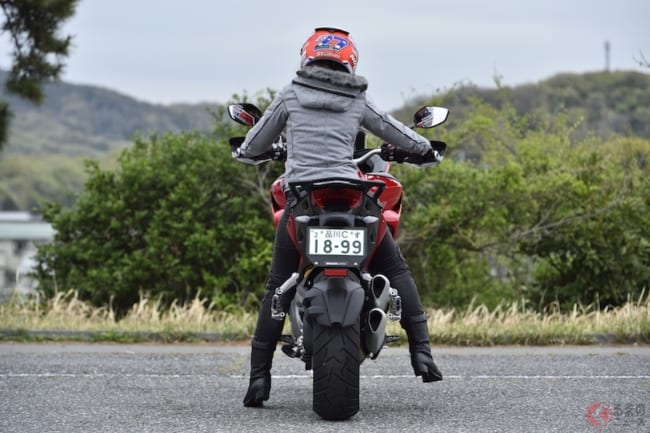
[[[368,97],[361,125],[383,141],[408,152],[424,155],[431,149],[426,137],[379,109]]]

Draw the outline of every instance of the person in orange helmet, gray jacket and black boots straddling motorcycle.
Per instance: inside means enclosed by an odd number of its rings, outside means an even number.
[[[363,127],[385,142],[437,161],[438,154],[428,139],[379,109],[366,96],[368,82],[354,73],[358,53],[348,32],[317,28],[300,54],[301,69],[273,99],[241,146],[233,151],[234,158],[250,159],[263,154],[284,131],[286,181],[325,177],[358,179],[353,152],[355,137]],[[287,203],[291,201],[288,199]],[[271,302],[275,289],[298,269],[300,260],[287,230],[290,214],[291,207],[287,205],[275,235],[266,295],[251,343],[250,383],[244,406],[262,406],[271,390],[273,353],[283,329],[283,321],[271,317]],[[369,272],[385,275],[402,298],[400,324],[408,336],[415,375],[421,376],[424,382],[442,380],[431,356],[427,319],[417,287],[390,235],[383,237]]]

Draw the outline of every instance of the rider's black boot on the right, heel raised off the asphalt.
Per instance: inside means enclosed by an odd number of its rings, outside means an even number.
[[[422,382],[436,382],[442,380],[442,373],[438,370],[429,345],[429,329],[424,314],[404,317],[401,320],[402,328],[406,331],[411,353],[411,365],[416,376],[422,376]]]

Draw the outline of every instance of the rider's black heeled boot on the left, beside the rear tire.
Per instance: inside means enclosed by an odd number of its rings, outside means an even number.
[[[266,343],[253,339],[251,344],[251,377],[244,406],[262,407],[271,393],[271,364],[276,342]]]

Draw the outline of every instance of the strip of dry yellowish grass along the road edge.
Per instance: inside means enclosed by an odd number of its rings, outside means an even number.
[[[515,302],[492,310],[484,305],[431,309],[428,316],[434,344],[650,343],[648,296],[605,310],[575,306],[562,312],[553,306],[537,312]],[[240,341],[250,339],[255,321],[256,314],[218,311],[199,298],[169,309],[142,298],[120,320],[111,309],[91,307],[72,291],[47,300],[13,297],[0,304],[0,338],[12,340]],[[62,330],[66,332],[56,332]],[[406,341],[398,323],[390,323],[388,331]]]

